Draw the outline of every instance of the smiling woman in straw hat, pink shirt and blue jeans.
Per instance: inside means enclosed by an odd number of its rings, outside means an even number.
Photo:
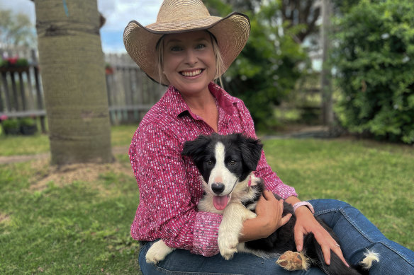
[[[150,78],[169,85],[140,122],[129,151],[140,189],[131,235],[145,243],[139,260],[143,274],[323,274],[315,268],[285,271],[275,259],[252,254],[235,254],[225,261],[217,244],[221,216],[196,210],[203,189],[194,163],[181,157],[184,142],[213,132],[256,137],[244,103],[212,82],[240,54],[249,33],[247,16],[210,16],[196,0],[165,0],[156,23],[144,27],[132,21],[125,28],[123,39],[130,57]],[[414,271],[413,252],[387,240],[357,209],[335,200],[300,201],[295,189],[272,172],[264,152],[254,173],[264,179],[269,192],[259,201],[257,218],[245,221],[240,242],[263,238],[287,222],[289,217],[281,218],[283,206],[272,196],[274,192],[296,206],[298,251],[303,234],[313,232],[327,264],[331,250],[344,262],[346,258],[357,264],[370,248],[380,254],[380,261],[371,268],[373,274]],[[335,230],[342,250],[315,221],[313,209]],[[147,264],[145,253],[160,238],[178,249],[157,265]]]

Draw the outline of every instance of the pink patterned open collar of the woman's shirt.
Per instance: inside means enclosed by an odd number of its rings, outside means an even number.
[[[222,108],[228,115],[233,115],[233,104],[237,103],[237,100],[216,83],[211,82],[208,84],[208,89],[214,98],[216,98],[218,106]],[[191,117],[196,118],[195,115],[191,112],[189,105],[187,105],[184,101],[184,98],[182,98],[181,93],[179,93],[179,90],[177,90],[177,88],[170,85],[168,87],[166,95],[172,100],[171,111],[175,117],[178,117],[184,112],[189,112]]]

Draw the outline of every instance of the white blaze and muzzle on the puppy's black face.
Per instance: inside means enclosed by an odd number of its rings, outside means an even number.
[[[232,172],[225,167],[225,147],[224,144],[218,142],[216,144],[216,148],[214,148],[214,155],[216,157],[216,165],[214,165],[213,170],[211,170],[210,178],[208,179],[208,188],[211,190],[212,194],[213,189],[211,189],[211,185],[213,182],[222,182],[225,186],[224,191],[220,194],[220,196],[225,196],[230,194],[233,186],[237,182],[237,177],[233,175]]]

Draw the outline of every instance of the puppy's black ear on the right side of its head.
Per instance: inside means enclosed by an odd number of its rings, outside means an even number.
[[[238,136],[238,139],[243,162],[250,170],[256,170],[257,163],[259,163],[260,156],[262,156],[263,145],[258,139],[250,139],[242,134]]]

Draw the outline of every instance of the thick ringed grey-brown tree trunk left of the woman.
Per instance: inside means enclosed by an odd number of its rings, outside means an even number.
[[[111,162],[96,0],[35,0],[52,163]]]

